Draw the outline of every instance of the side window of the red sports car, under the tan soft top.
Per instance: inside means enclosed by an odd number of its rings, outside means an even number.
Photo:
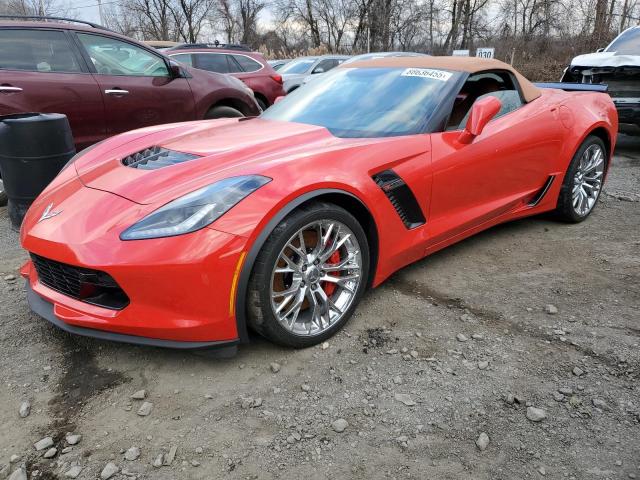
[[[449,117],[447,130],[464,129],[473,104],[486,97],[495,97],[502,104],[494,119],[511,113],[524,105],[520,92],[509,72],[476,73],[469,76],[460,89]]]

